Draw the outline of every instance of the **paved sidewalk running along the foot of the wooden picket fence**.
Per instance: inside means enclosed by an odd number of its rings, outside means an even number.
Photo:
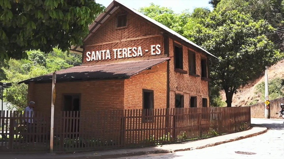
[[[185,142],[181,144],[169,144],[162,146],[153,146],[146,148],[123,148],[123,149],[115,149],[115,150],[107,150],[107,151],[92,151],[92,152],[75,152],[74,154],[48,154],[48,153],[34,153],[29,154],[28,152],[25,154],[15,154],[15,153],[0,153],[1,158],[13,158],[13,159],[31,159],[31,158],[117,158],[117,157],[126,157],[126,156],[134,156],[134,155],[143,155],[143,154],[158,154],[158,153],[169,153],[175,151],[186,151],[186,150],[194,150],[206,148],[209,146],[215,146],[231,141],[236,141],[252,136],[259,135],[261,133],[265,133],[267,131],[266,127],[260,125],[252,124],[252,128],[246,131],[231,133],[227,135],[212,137],[203,140]]]

